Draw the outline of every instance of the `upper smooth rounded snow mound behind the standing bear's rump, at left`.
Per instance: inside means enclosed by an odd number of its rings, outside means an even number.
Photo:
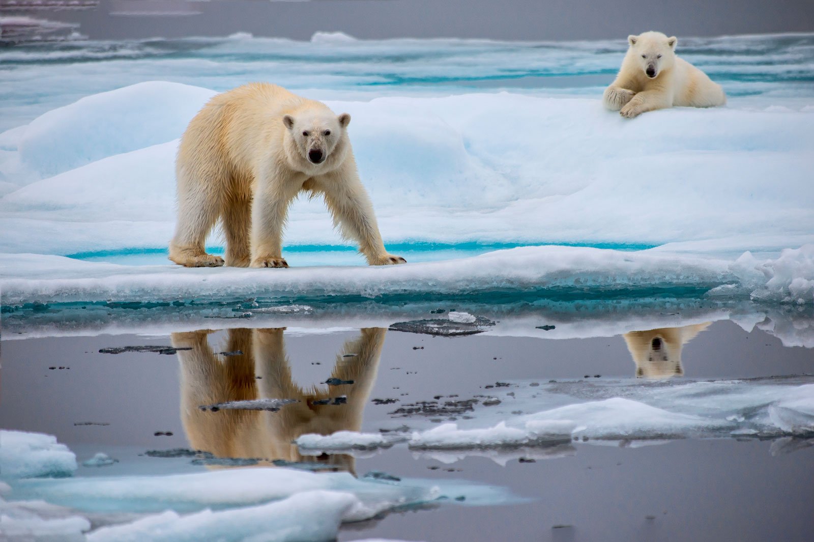
[[[181,137],[213,90],[148,81],[81,98],[37,117],[20,159],[43,177]]]

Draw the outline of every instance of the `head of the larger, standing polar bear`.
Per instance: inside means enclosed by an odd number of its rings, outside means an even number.
[[[345,129],[350,121],[348,113],[335,115],[327,108],[306,109],[282,117],[295,154],[309,166],[344,159],[348,146]]]

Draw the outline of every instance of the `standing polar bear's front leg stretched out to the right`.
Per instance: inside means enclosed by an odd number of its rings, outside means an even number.
[[[359,251],[369,265],[407,263],[401,256],[389,254],[384,248],[373,204],[361,185],[355,164],[330,173],[315,189],[325,195],[325,203],[343,237],[359,243]]]

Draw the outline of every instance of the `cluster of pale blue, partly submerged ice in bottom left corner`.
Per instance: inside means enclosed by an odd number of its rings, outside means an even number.
[[[55,446],[50,435],[2,431],[0,436],[10,445]],[[58,446],[59,452],[73,457],[68,448]],[[349,473],[287,468],[53,478],[58,473],[50,468],[49,457],[28,454],[12,459],[26,468],[0,473],[0,535],[20,540],[50,536],[47,540],[177,542],[262,536],[261,540],[273,542],[320,542],[335,537],[343,522],[392,510],[444,503],[496,505],[514,499],[500,487],[477,483],[393,477],[380,481],[374,476],[357,479]],[[4,461],[4,466],[11,465],[8,458]]]

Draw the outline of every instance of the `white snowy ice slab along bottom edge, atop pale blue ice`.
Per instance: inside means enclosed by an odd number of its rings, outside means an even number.
[[[343,518],[360,506],[361,502],[351,493],[303,492],[277,502],[238,509],[215,512],[205,509],[186,516],[168,511],[125,525],[103,527],[90,533],[87,540],[322,542],[333,540]]]

